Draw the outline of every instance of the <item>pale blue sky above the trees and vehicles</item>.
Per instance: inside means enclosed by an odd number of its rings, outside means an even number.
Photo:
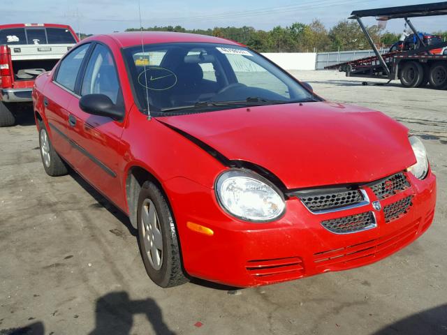
[[[186,29],[242,27],[269,30],[293,22],[321,20],[330,29],[352,10],[406,6],[440,1],[424,0],[140,0],[142,26],[181,25]],[[140,27],[138,0],[1,0],[3,23],[64,23],[85,34],[107,34]],[[446,31],[445,16],[411,20],[419,31]],[[365,24],[376,24],[374,18]],[[403,20],[391,20],[389,31],[401,33]]]

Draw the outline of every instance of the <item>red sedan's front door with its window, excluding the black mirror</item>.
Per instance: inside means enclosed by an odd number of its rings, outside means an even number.
[[[115,60],[106,45],[94,45],[78,91],[80,96],[105,94],[124,109]],[[79,107],[79,97],[71,100],[68,110],[71,113],[69,118],[73,120],[68,123],[68,135],[78,144],[83,156],[76,163],[78,171],[112,202],[120,205],[122,185],[118,164],[125,151],[121,142],[124,124],[83,112]]]

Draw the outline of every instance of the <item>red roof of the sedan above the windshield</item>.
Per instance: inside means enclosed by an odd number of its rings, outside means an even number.
[[[228,45],[241,45],[233,40],[226,38],[219,38],[214,36],[205,36],[198,34],[176,33],[171,31],[126,31],[123,33],[105,34],[103,36],[110,36],[120,47],[133,47],[144,44],[156,43],[220,43]],[[85,40],[101,39],[100,36],[91,36]]]

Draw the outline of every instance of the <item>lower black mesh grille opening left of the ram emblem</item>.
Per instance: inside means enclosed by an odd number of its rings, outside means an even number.
[[[366,213],[345,216],[343,218],[331,218],[330,220],[322,221],[321,225],[330,232],[347,234],[373,228],[376,225],[376,221],[374,220],[374,215],[367,211]]]

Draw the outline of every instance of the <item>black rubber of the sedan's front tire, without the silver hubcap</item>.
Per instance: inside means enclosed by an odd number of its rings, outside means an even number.
[[[161,264],[161,269],[156,270],[152,267],[149,262],[149,256],[145,252],[143,237],[142,237],[142,220],[141,220],[141,210],[142,203],[146,200],[152,200],[154,203],[157,216],[159,218],[161,235],[163,237],[163,261]],[[171,225],[172,223],[172,225]],[[150,181],[146,181],[142,185],[140,195],[138,196],[138,207],[137,207],[137,227],[138,227],[138,246],[140,247],[140,253],[145,265],[147,274],[157,285],[166,288],[170,283],[170,274],[173,271],[173,257],[179,258],[179,255],[173,255],[173,250],[171,246],[177,244],[177,234],[175,233],[175,226],[173,223],[173,216],[170,214],[170,210],[166,200],[159,189]]]

